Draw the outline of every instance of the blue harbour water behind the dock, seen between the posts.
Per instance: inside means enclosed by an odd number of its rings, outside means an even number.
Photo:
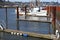
[[[7,12],[8,13],[7,14],[7,16],[8,16],[8,29],[17,30],[15,8],[8,8],[7,10],[8,10],[8,12]],[[4,23],[4,25],[6,25],[5,24],[6,23],[5,8],[0,8],[0,21],[2,21]],[[51,29],[50,33],[52,34],[53,33],[52,25],[49,23],[19,21],[19,29],[21,31],[26,31],[26,32],[48,34],[49,33],[49,25],[50,25],[50,29]]]

